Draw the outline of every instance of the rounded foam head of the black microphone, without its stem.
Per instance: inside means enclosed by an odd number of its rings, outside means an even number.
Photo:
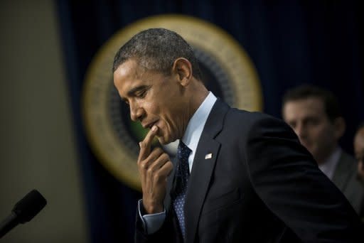
[[[18,216],[21,223],[25,223],[33,219],[47,204],[47,200],[43,198],[38,190],[31,190],[30,193],[18,201],[13,208],[13,212]]]

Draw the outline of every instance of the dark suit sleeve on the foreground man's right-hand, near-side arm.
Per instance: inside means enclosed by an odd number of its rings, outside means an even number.
[[[259,119],[242,146],[257,195],[303,242],[364,242],[353,207],[287,124]]]

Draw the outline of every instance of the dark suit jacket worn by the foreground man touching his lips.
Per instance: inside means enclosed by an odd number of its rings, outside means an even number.
[[[183,242],[173,175],[164,225],[147,235],[137,216],[136,242]],[[185,221],[185,242],[360,242],[361,234],[353,207],[287,124],[219,99],[196,150]]]

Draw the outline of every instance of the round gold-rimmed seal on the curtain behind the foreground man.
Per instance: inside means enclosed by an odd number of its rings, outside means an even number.
[[[130,187],[140,190],[137,169],[139,141],[146,131],[129,117],[114,87],[112,63],[117,50],[147,28],[167,28],[192,45],[208,90],[230,106],[249,111],[262,109],[262,91],[255,67],[232,36],[212,23],[181,15],[161,15],[132,23],[100,48],[87,70],[82,97],[85,131],[103,166]],[[173,101],[171,101],[173,102]],[[164,146],[173,156],[176,143]],[[154,146],[159,146],[158,141]]]

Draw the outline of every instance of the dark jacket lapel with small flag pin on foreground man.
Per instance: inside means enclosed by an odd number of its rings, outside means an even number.
[[[220,143],[215,141],[215,136],[223,128],[228,109],[228,105],[219,99],[215,102],[198,141],[185,201],[186,242],[193,242],[196,235],[200,212],[220,150]]]

